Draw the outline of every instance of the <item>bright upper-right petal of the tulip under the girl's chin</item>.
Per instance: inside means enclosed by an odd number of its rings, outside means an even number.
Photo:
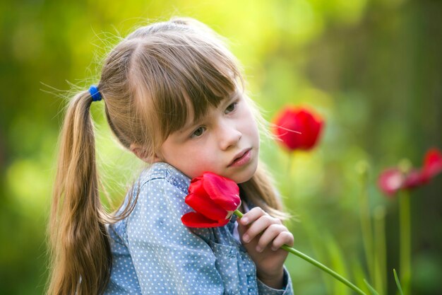
[[[203,178],[204,189],[215,204],[227,211],[238,209],[241,198],[237,183],[211,172],[205,172]]]

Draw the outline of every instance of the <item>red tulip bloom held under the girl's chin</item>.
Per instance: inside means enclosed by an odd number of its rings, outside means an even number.
[[[239,187],[233,180],[205,172],[191,180],[185,202],[196,212],[184,214],[181,217],[183,224],[207,228],[225,226],[241,205],[241,198]]]

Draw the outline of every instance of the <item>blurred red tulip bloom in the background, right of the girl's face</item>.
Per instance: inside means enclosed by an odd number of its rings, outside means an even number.
[[[306,108],[285,108],[275,117],[274,123],[273,132],[289,151],[312,149],[324,124],[321,116]]]

